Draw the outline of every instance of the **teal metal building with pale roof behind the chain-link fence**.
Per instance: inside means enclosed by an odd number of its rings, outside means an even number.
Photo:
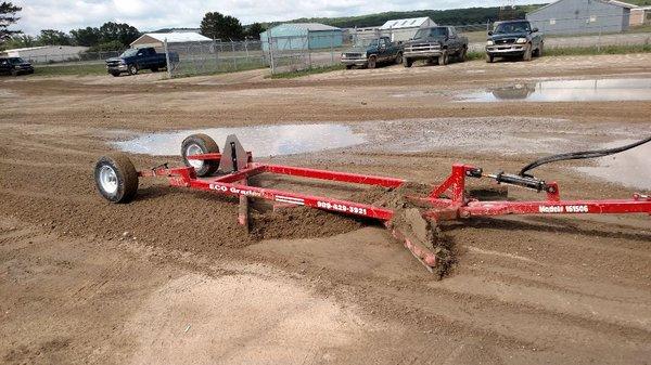
[[[341,47],[342,29],[319,23],[285,23],[260,32],[263,50],[318,50]]]

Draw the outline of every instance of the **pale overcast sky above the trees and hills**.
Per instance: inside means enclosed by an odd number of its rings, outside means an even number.
[[[199,27],[206,12],[218,11],[238,17],[242,24],[289,21],[297,17],[347,16],[384,11],[494,6],[545,0],[13,0],[23,8],[13,28],[29,35],[41,29],[71,29],[100,26],[104,22],[128,23],[139,30],[167,27]]]

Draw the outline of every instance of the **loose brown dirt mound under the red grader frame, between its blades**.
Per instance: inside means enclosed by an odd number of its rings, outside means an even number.
[[[253,211],[251,218],[251,234],[256,239],[333,236],[371,223],[307,207]]]

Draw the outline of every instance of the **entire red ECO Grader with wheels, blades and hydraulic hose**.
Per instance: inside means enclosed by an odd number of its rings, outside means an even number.
[[[474,217],[506,214],[651,214],[651,197],[636,193],[628,199],[563,200],[559,185],[537,179],[527,171],[544,164],[565,159],[605,156],[633,148],[651,139],[628,146],[598,152],[584,152],[545,157],[525,167],[519,174],[487,174],[481,168],[456,164],[443,183],[432,186],[426,195],[403,195],[404,201],[393,206],[362,204],[327,196],[266,188],[250,185],[250,179],[259,174],[281,174],[295,178],[334,181],[358,185],[381,186],[386,194],[399,191],[409,183],[404,179],[368,174],[317,170],[284,165],[254,162],[235,135],[229,135],[224,152],[206,134],[193,134],[181,143],[182,167],[167,164],[149,170],[136,170],[123,153],[106,155],[97,162],[94,180],[100,194],[112,203],[133,199],[140,178],[167,178],[171,186],[189,187],[240,198],[238,221],[248,225],[248,200],[266,199],[275,205],[305,206],[334,213],[361,217],[381,222],[391,234],[430,271],[443,274],[450,263],[449,252],[438,242],[437,224],[444,220],[463,220]],[[483,201],[467,194],[467,179],[492,179],[498,184],[534,190],[546,195],[534,201]]]

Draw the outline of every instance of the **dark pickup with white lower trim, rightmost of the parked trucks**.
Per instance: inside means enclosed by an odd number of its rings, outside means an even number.
[[[509,21],[495,23],[495,30],[488,31],[486,41],[486,62],[495,57],[522,57],[531,61],[532,56],[542,55],[545,36],[538,28],[532,28],[527,21]]]

